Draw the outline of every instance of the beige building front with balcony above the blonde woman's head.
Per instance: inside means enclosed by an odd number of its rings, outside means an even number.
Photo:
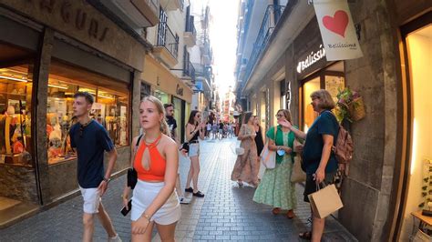
[[[153,48],[146,55],[141,81],[149,93],[162,103],[172,103],[177,120],[177,136],[184,140],[192,103],[194,71],[189,66],[187,45],[195,45],[190,26],[189,1],[160,1],[159,25],[147,28],[147,40]]]

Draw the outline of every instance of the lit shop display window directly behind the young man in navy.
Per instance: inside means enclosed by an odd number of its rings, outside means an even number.
[[[88,92],[95,97],[90,116],[107,129],[115,146],[129,145],[129,92],[115,80],[77,67],[53,62],[48,78],[46,137],[48,164],[75,159],[68,132],[77,120],[74,95]]]

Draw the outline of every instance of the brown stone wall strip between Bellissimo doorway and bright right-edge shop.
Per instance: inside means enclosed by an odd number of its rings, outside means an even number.
[[[396,115],[401,111],[396,106],[395,45],[383,2],[356,1],[350,8],[355,24],[362,27],[364,57],[345,61],[346,85],[363,96],[366,116],[352,125],[356,152],[339,218],[360,241],[382,241],[393,190]]]

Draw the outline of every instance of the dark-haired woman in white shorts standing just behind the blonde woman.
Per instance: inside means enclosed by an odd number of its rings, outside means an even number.
[[[190,112],[189,121],[186,125],[186,140],[189,142],[190,168],[188,179],[186,180],[185,192],[192,193],[195,197],[204,197],[204,194],[198,190],[198,176],[200,175],[200,141],[204,139],[205,123],[201,123],[201,112],[192,110]],[[190,187],[190,180],[193,183],[193,188]]]

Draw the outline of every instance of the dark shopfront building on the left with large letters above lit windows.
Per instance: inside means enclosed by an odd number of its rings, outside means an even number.
[[[77,195],[67,137],[77,91],[96,98],[92,116],[118,148],[114,175],[129,166],[150,47],[138,30],[159,22],[159,1],[123,4],[113,15],[99,1],[0,1],[0,227]]]

